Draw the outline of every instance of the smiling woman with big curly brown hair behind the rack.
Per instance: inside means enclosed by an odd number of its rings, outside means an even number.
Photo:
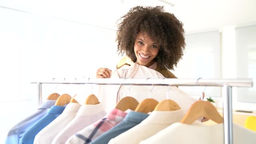
[[[119,54],[142,66],[176,78],[173,70],[185,47],[183,24],[162,6],[132,8],[120,18],[117,38]],[[96,78],[110,78],[111,70],[99,68]]]

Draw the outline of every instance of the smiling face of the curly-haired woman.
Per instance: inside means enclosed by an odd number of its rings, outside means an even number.
[[[134,43],[136,62],[142,66],[149,67],[154,64],[154,58],[159,51],[159,44],[153,42],[148,34],[139,32]]]

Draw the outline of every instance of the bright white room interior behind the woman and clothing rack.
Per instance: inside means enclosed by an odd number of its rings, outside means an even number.
[[[115,69],[121,58],[116,21],[137,5],[165,6],[184,23],[186,49],[172,70],[178,78],[256,80],[255,0],[2,0],[1,144],[8,130],[38,107],[37,84],[31,82],[87,80],[95,78],[99,67]],[[83,103],[94,93],[92,87],[43,85],[43,100],[53,92],[79,93]],[[179,88],[195,98],[204,90]],[[219,87],[205,89],[220,107],[221,93]],[[256,86],[233,88],[232,94],[234,110],[256,111]]]

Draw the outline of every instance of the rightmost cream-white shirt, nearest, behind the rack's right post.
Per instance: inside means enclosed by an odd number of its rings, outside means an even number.
[[[256,132],[233,124],[234,144],[255,144]],[[224,144],[223,123],[195,125],[174,123],[140,144]]]

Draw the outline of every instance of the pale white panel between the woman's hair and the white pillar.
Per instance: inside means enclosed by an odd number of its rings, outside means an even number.
[[[186,34],[186,49],[173,73],[178,78],[221,78],[220,32],[210,31]],[[180,86],[191,96],[200,96],[205,89],[207,97],[221,96],[219,87]],[[199,98],[199,97],[198,97]]]

